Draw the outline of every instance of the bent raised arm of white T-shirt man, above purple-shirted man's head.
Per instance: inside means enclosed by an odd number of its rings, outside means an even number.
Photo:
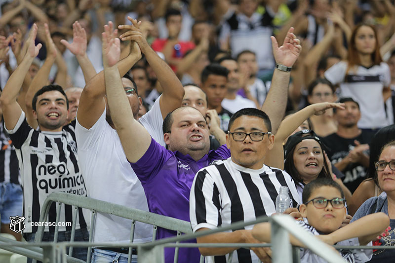
[[[129,29],[129,31],[122,34],[120,38],[122,40],[136,41],[140,46],[141,52],[145,55],[148,63],[157,75],[158,81],[163,88],[159,103],[160,111],[164,118],[167,113],[180,107],[185,93],[184,87],[169,65],[167,65],[148,44],[147,39],[144,38],[140,30],[140,25],[137,23],[137,20],[131,19],[130,17],[128,17],[128,19],[132,22],[132,25],[119,26],[120,29]]]

